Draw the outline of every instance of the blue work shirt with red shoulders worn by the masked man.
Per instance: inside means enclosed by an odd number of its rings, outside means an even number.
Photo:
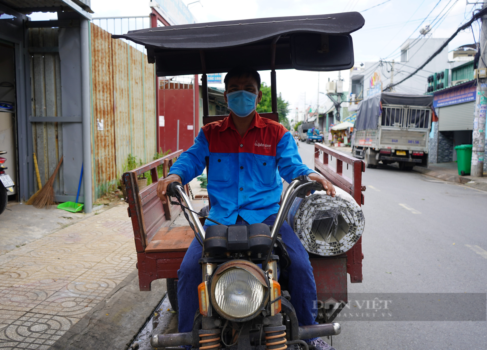
[[[231,115],[206,124],[169,174],[179,175],[187,184],[202,174],[206,157],[208,217],[225,225],[234,224],[239,215],[249,223],[264,221],[279,211],[281,177],[291,183],[300,175],[316,172],[302,164],[291,133],[257,112],[244,137]],[[206,220],[205,224],[215,223]]]

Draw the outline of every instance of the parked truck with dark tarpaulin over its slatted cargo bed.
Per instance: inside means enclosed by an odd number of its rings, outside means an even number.
[[[432,95],[382,92],[358,106],[352,153],[369,168],[397,162],[401,170],[428,166]]]

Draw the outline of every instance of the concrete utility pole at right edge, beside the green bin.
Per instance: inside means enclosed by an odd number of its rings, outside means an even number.
[[[487,3],[484,3],[483,9],[486,8]],[[481,50],[481,57],[479,59],[477,74],[481,68],[486,68],[484,64],[487,61],[485,51],[487,40],[487,16],[482,16],[482,31],[479,40],[479,50]],[[484,176],[484,155],[486,146],[486,113],[487,113],[487,84],[486,78],[477,79],[477,94],[475,100],[475,113],[473,115],[473,130],[472,130],[472,163],[470,175],[476,177]]]

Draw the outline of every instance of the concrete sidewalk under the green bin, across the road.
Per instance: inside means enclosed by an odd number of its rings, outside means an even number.
[[[484,173],[484,177],[458,175],[456,162],[430,164],[427,168],[414,166],[412,170],[444,181],[464,184],[469,187],[487,191],[487,173]]]

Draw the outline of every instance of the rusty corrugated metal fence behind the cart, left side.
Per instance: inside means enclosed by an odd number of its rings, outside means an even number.
[[[94,198],[111,190],[129,154],[156,152],[155,72],[147,56],[91,23]]]

